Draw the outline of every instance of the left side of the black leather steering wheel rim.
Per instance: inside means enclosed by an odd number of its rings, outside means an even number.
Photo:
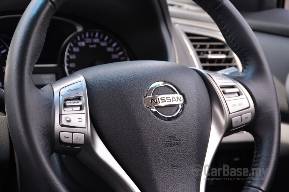
[[[5,71],[8,127],[19,163],[36,191],[65,191],[50,155],[54,145],[54,99],[51,85],[37,89],[32,70],[54,13],[48,0],[33,0],[13,35]]]

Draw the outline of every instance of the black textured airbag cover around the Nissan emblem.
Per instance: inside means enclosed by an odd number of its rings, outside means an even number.
[[[194,70],[164,61],[129,61],[77,73],[86,81],[96,131],[141,191],[199,191],[200,176],[191,169],[204,164],[211,109]],[[157,81],[171,83],[185,98],[182,114],[173,121],[158,119],[144,105]],[[181,146],[166,147],[169,136]]]

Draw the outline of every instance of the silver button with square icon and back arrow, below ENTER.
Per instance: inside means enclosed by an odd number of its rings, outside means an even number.
[[[61,127],[85,128],[85,114],[60,115]]]

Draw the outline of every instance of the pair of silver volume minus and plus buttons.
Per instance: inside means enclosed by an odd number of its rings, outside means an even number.
[[[59,138],[62,143],[82,145],[84,143],[83,133],[63,132],[59,133]]]

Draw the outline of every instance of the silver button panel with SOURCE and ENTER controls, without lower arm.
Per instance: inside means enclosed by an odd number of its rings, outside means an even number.
[[[53,83],[52,88],[55,151],[76,155],[85,145],[86,137],[90,137],[85,79],[79,74],[69,75]]]

